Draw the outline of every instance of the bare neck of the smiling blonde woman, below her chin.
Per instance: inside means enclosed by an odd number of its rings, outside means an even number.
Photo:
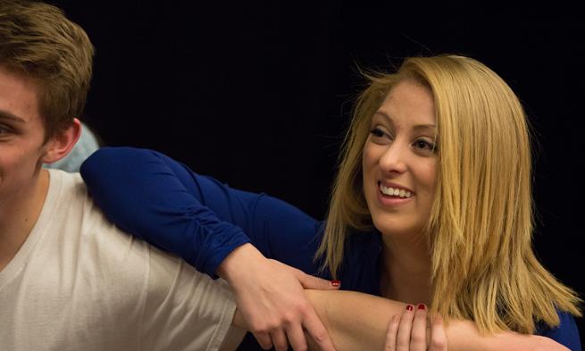
[[[430,253],[424,238],[382,235],[380,292],[408,304],[430,303]]]

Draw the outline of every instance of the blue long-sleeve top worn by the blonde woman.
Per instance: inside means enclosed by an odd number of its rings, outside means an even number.
[[[277,198],[230,188],[146,149],[101,148],[80,172],[96,204],[122,230],[212,278],[223,259],[248,242],[268,258],[331,278],[314,260],[324,222]],[[352,233],[347,247],[338,277],[342,288],[380,296],[380,233]],[[540,326],[539,334],[581,350],[572,315],[559,317],[559,327]]]

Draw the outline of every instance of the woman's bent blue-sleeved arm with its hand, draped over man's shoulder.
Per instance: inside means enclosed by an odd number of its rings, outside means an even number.
[[[317,222],[305,213],[270,196],[229,188],[151,150],[104,147],[83,163],[81,175],[96,204],[122,230],[227,280],[263,347],[280,350],[290,342],[301,349],[304,328],[327,335],[303,288],[338,286],[264,256],[312,267],[315,249],[306,243]],[[319,344],[332,350],[329,338]]]

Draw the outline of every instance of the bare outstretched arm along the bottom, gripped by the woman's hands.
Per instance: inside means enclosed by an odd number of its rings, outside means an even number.
[[[355,291],[305,290],[322,322],[329,330],[337,351],[382,350],[389,321],[401,315],[406,304]],[[236,312],[233,324],[247,329]],[[569,351],[551,338],[499,332],[481,335],[469,321],[451,321],[446,325],[449,351]],[[312,344],[311,349],[320,348]]]

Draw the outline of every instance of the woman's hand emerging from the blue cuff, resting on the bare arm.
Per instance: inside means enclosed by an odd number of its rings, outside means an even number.
[[[335,350],[304,289],[338,289],[338,282],[266,259],[251,244],[228,255],[217,273],[230,283],[247,330],[264,349],[287,350],[289,343],[296,351],[306,350],[305,329],[322,350]]]

